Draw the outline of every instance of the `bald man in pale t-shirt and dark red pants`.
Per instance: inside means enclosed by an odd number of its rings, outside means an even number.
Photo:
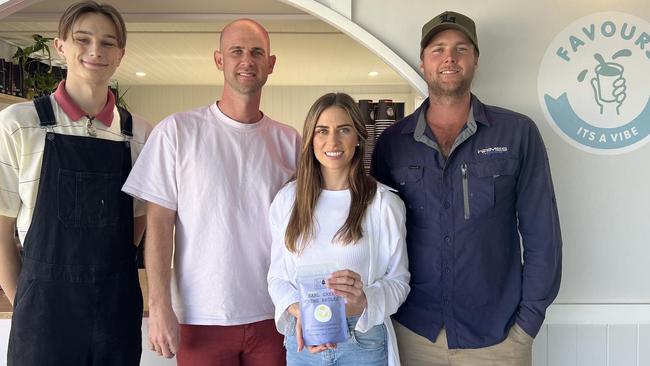
[[[181,366],[284,365],[267,217],[300,137],[259,110],[275,64],[266,30],[239,19],[220,42],[221,99],[156,126],[123,187],[148,202],[149,342]]]

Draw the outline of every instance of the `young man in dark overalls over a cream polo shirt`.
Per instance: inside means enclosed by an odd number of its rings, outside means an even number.
[[[0,281],[13,304],[9,366],[140,363],[133,243],[144,217],[134,225],[133,201],[120,189],[148,129],[116,108],[108,89],[125,41],[113,7],[70,6],[54,40],[66,80],[52,96],[0,112]],[[14,223],[22,263],[8,243]]]

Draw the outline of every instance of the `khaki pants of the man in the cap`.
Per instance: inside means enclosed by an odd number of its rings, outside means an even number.
[[[448,349],[444,328],[435,343],[393,321],[402,366],[531,366],[533,338],[515,323],[508,337],[493,346]]]

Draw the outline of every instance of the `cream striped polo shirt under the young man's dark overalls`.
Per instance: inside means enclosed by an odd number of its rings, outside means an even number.
[[[52,132],[88,136],[87,117],[73,121],[63,112],[53,95],[50,100],[57,121]],[[97,131],[97,138],[124,140],[120,132],[117,107],[114,108],[110,127],[97,120],[92,124]],[[140,154],[150,131],[151,126],[147,122],[133,115],[132,161]],[[38,114],[32,102],[13,104],[0,111],[0,215],[17,218],[16,227],[21,242],[24,242],[34,214],[46,132],[39,126]],[[144,215],[145,209],[143,202],[134,200],[134,216]]]

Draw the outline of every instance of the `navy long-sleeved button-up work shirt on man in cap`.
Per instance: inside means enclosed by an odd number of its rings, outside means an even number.
[[[407,209],[411,292],[394,318],[432,342],[444,326],[449,348],[499,343],[515,321],[534,337],[558,293],[562,258],[539,131],[472,95],[445,160],[428,107],[427,99],[386,129],[372,160],[372,174]]]

